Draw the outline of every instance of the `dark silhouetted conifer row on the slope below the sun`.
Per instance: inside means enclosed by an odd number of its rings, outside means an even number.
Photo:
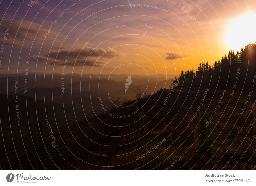
[[[199,87],[231,88],[237,80],[238,88],[248,89],[256,71],[256,43],[249,43],[240,52],[229,51],[218,61],[199,64],[198,69],[181,71],[178,89],[194,89]]]

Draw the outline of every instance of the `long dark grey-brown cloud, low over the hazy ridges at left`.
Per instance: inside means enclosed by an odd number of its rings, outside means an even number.
[[[92,46],[85,46],[82,50],[74,49],[69,53],[68,52],[68,50],[61,50],[59,52],[52,51],[49,53],[49,56],[48,54],[44,54],[39,57],[37,55],[33,55],[30,57],[30,60],[37,61],[38,58],[38,62],[40,63],[64,65],[65,58],[68,56],[68,65],[74,65],[76,63],[78,66],[92,66],[96,60],[98,60],[97,64],[103,64],[103,62],[100,62],[102,59],[109,59],[120,54],[119,51],[110,47],[108,49],[104,49],[101,47],[93,48]]]

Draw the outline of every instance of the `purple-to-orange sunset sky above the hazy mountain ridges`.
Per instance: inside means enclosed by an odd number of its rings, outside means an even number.
[[[178,76],[244,47],[234,30],[254,13],[255,0],[1,0],[0,73]]]

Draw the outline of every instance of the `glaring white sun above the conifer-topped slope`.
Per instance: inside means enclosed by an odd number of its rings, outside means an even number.
[[[229,50],[240,51],[248,43],[256,41],[256,14],[247,13],[231,23],[226,33]]]

